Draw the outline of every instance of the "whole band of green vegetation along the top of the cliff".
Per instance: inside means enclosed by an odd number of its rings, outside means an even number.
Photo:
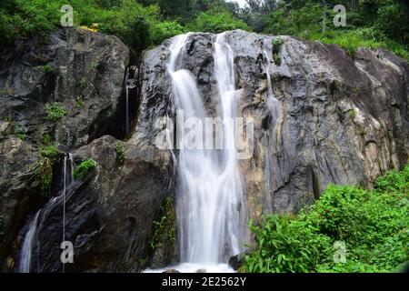
[[[45,39],[60,27],[62,5],[74,9],[74,23],[119,36],[137,55],[146,47],[187,31],[220,33],[244,29],[294,35],[343,46],[384,47],[409,59],[409,8],[399,0],[3,0],[0,44],[16,38]],[[334,5],[346,8],[346,26],[333,24]]]

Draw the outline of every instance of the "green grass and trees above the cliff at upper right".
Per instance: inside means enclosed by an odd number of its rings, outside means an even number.
[[[322,2],[305,1],[297,5],[277,5],[264,17],[263,32],[339,45],[352,57],[361,46],[384,47],[409,60],[409,13],[404,5],[395,0],[360,1],[357,7],[347,9],[346,27],[336,28],[332,23],[332,7],[340,3],[327,3],[325,31]],[[349,6],[348,2],[343,4]]]

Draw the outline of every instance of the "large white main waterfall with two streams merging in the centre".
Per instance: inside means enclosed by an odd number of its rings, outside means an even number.
[[[174,106],[184,118],[204,120],[206,108],[195,76],[183,68],[181,56],[189,35],[176,36],[167,65],[173,81]],[[196,266],[225,264],[244,247],[245,201],[239,173],[234,123],[239,95],[235,90],[234,54],[218,35],[214,43],[214,74],[223,113],[223,150],[188,149],[177,157],[176,210],[182,263]]]

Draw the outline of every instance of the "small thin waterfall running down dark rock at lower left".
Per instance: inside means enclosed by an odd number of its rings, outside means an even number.
[[[68,164],[68,166],[67,166]],[[67,167],[70,169],[70,175],[67,175]],[[35,218],[28,225],[28,230],[25,233],[25,238],[20,250],[18,272],[19,273],[30,273],[32,269],[32,256],[33,256],[33,247],[36,244],[37,230],[43,225],[42,218],[45,217],[45,214],[53,209],[56,205],[56,202],[59,198],[63,199],[63,241],[65,241],[65,194],[67,186],[70,186],[74,182],[74,158],[72,154],[66,154],[64,157],[64,167],[63,167],[63,194],[60,197],[52,198],[44,208],[40,209],[36,214]],[[63,265],[63,272],[65,266]]]

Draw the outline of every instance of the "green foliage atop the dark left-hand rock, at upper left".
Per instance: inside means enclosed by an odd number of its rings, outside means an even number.
[[[60,27],[65,0],[7,0],[0,7],[0,40],[8,44],[16,38],[32,36],[46,39]],[[135,0],[71,0],[76,26],[98,25],[98,29],[119,36],[135,52],[158,45],[165,38],[183,32],[177,20],[164,21],[159,6],[143,6]]]

